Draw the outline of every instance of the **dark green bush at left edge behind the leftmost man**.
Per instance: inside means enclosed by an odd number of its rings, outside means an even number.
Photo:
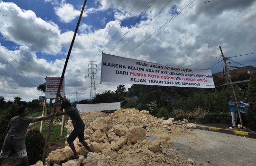
[[[15,116],[18,116],[18,107],[16,105],[11,105],[5,115],[0,116],[0,149],[2,149],[5,133],[8,128],[9,120]]]

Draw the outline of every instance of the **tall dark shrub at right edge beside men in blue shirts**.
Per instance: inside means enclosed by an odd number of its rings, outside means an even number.
[[[247,120],[256,122],[256,72],[251,74],[247,89],[247,99],[250,104],[249,109],[247,109]]]

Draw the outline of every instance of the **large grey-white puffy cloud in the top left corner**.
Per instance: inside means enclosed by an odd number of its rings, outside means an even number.
[[[27,45],[31,51],[57,54],[61,50],[60,30],[52,21],[44,21],[31,10],[22,10],[14,3],[0,2],[2,31],[7,41]]]

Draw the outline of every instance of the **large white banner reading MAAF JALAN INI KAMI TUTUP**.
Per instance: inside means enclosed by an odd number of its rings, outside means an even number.
[[[210,70],[171,67],[104,53],[101,82],[215,88]]]

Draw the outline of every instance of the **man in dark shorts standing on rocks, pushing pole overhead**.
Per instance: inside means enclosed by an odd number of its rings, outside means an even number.
[[[58,96],[60,96],[60,94],[58,94]],[[62,97],[60,97],[61,100],[63,100]],[[72,125],[74,126],[73,131],[70,133],[67,142],[69,144],[69,147],[72,149],[73,151],[73,155],[70,156],[69,159],[76,159],[79,158],[75,147],[74,147],[74,143],[73,141],[76,139],[76,137],[78,136],[79,142],[81,142],[83,144],[83,146],[89,151],[91,152],[91,149],[89,148],[88,144],[84,141],[84,123],[81,119],[81,116],[78,112],[77,109],[73,108],[70,104],[69,101],[63,101],[63,103],[61,104],[61,108],[64,109],[64,111],[60,111],[59,107],[57,104],[54,105],[54,107],[56,108],[56,111],[59,115],[68,115],[70,117],[70,119],[72,120]]]

